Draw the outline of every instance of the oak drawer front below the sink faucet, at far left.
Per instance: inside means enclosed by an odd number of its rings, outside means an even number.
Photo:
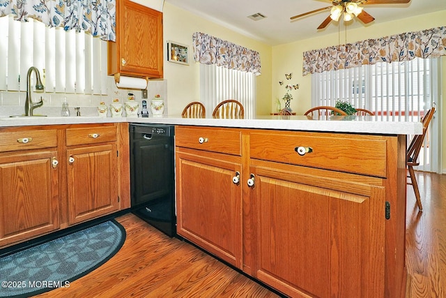
[[[57,131],[15,131],[0,133],[0,152],[57,147]]]

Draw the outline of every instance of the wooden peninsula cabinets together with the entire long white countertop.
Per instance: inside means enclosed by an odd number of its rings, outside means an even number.
[[[107,121],[116,119],[0,119],[0,133]],[[181,236],[292,297],[403,297],[406,135],[420,123],[118,121],[177,125]]]

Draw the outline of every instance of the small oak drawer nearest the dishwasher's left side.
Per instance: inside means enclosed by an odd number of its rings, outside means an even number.
[[[68,128],[66,144],[74,146],[80,144],[95,144],[102,142],[116,141],[116,127],[88,127],[88,128]]]

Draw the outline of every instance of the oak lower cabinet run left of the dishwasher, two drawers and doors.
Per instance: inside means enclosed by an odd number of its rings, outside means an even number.
[[[0,249],[130,207],[123,133],[127,124],[0,128]]]

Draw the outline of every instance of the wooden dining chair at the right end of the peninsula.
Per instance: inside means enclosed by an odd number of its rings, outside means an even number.
[[[421,203],[420,190],[418,189],[417,178],[415,177],[415,171],[413,170],[413,167],[420,165],[420,162],[418,161],[418,155],[420,154],[421,148],[423,147],[424,137],[426,137],[427,129],[429,128],[429,124],[431,123],[434,112],[435,107],[431,107],[431,110],[426,112],[421,120],[423,124],[423,133],[421,135],[415,135],[413,137],[406,153],[406,165],[409,172],[408,178],[410,178],[410,182],[407,182],[407,184],[413,186],[415,198],[417,199],[418,209],[420,209],[420,211],[423,210],[423,206]]]

